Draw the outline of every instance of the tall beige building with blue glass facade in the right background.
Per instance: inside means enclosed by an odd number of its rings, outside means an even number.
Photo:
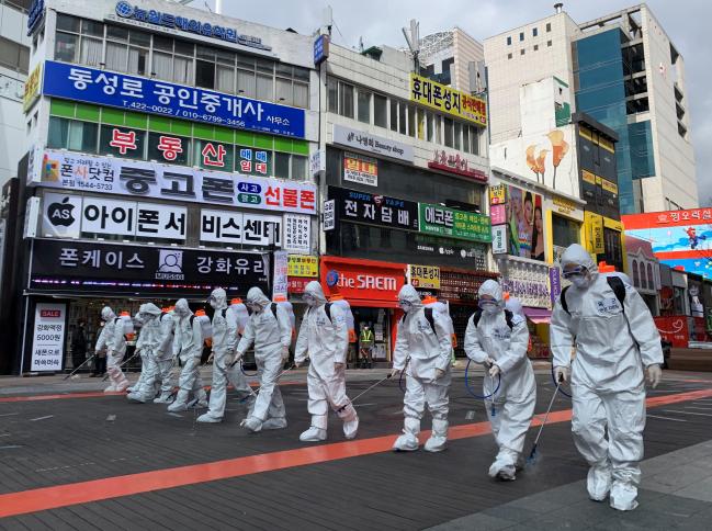
[[[539,114],[553,101],[566,142],[574,139],[566,121],[572,112],[618,136],[621,213],[697,206],[683,61],[645,4],[584,24],[557,4],[551,16],[487,38],[485,59],[494,165],[508,167],[505,151],[510,160],[527,160],[539,144],[536,154],[547,149],[543,163],[553,161],[554,146],[541,139],[551,123]],[[567,179],[551,185],[567,187]]]

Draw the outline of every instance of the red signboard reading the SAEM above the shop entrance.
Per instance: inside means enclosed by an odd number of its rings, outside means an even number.
[[[406,264],[321,257],[321,285],[327,297],[343,295],[352,306],[396,307],[406,282]]]

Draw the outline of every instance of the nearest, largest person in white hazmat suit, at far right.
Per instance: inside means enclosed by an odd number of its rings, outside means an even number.
[[[564,279],[573,285],[564,289],[554,306],[551,347],[556,380],[567,381],[570,371],[572,432],[590,465],[588,495],[602,501],[610,494],[612,508],[632,510],[637,507],[643,459],[644,369],[657,386],[660,337],[637,291],[599,274],[581,246],[569,246],[561,263]],[[618,292],[615,285],[621,286]]]

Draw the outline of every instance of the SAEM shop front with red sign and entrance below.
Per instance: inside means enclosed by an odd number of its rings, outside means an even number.
[[[406,283],[406,266],[337,257],[321,257],[321,285],[327,297],[343,296],[351,305],[355,332],[373,331],[375,363],[392,361],[398,318],[398,292]],[[354,364],[357,360],[349,360]]]

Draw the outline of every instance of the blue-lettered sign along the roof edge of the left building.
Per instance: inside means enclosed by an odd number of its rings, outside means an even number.
[[[185,3],[185,2],[183,2]],[[155,9],[146,10],[137,5],[132,5],[129,2],[116,2],[116,15],[124,20],[132,20],[143,22],[145,24],[152,24],[171,30],[180,30],[189,33],[196,33],[205,37],[218,38],[228,43],[237,43],[242,46],[250,46],[251,48],[270,50],[270,46],[262,44],[262,39],[251,35],[241,35],[233,27],[224,27],[213,25],[208,22],[201,22],[195,19],[187,19],[185,16],[176,15],[156,11]]]

